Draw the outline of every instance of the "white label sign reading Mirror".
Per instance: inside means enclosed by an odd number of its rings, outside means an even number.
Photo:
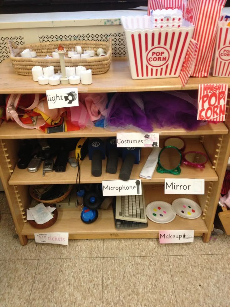
[[[165,194],[204,195],[204,179],[165,179]]]

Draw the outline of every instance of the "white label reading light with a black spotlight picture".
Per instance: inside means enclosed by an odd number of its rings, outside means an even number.
[[[49,109],[78,106],[78,88],[47,90]]]

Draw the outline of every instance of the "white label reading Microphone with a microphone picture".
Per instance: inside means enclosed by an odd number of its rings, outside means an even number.
[[[103,196],[141,195],[141,180],[107,180],[102,182]]]

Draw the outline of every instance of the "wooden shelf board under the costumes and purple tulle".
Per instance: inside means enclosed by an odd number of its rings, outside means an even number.
[[[56,132],[47,134],[37,129],[25,129],[14,122],[3,122],[0,127],[0,139],[42,139],[42,138],[71,138],[71,137],[109,137],[116,136],[118,132],[134,132],[134,130],[117,130],[110,131],[100,127],[93,129],[80,129],[78,131]],[[183,128],[155,128],[155,133],[160,136],[194,136],[194,135],[212,135],[212,134],[227,134],[228,129],[224,123],[210,124],[200,126],[197,130],[187,131]]]

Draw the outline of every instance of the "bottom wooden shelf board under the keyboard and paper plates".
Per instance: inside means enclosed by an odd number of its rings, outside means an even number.
[[[144,187],[145,204],[162,200],[172,203],[174,199],[186,197],[197,202],[195,195],[175,195],[164,194],[163,186]],[[39,229],[39,233],[47,232],[68,232],[69,238],[78,239],[93,239],[93,238],[158,238],[159,230],[194,230],[195,236],[201,236],[202,233],[207,233],[205,221],[202,215],[196,219],[187,219],[179,217],[167,224],[158,224],[148,219],[148,227],[134,230],[117,230],[114,224],[113,210],[110,206],[108,210],[98,210],[98,219],[92,224],[85,224],[81,221],[81,208],[73,209],[58,209],[57,222],[47,229]],[[33,228],[28,222],[25,223],[22,229],[22,235],[28,238],[34,238],[34,233],[38,230]]]

